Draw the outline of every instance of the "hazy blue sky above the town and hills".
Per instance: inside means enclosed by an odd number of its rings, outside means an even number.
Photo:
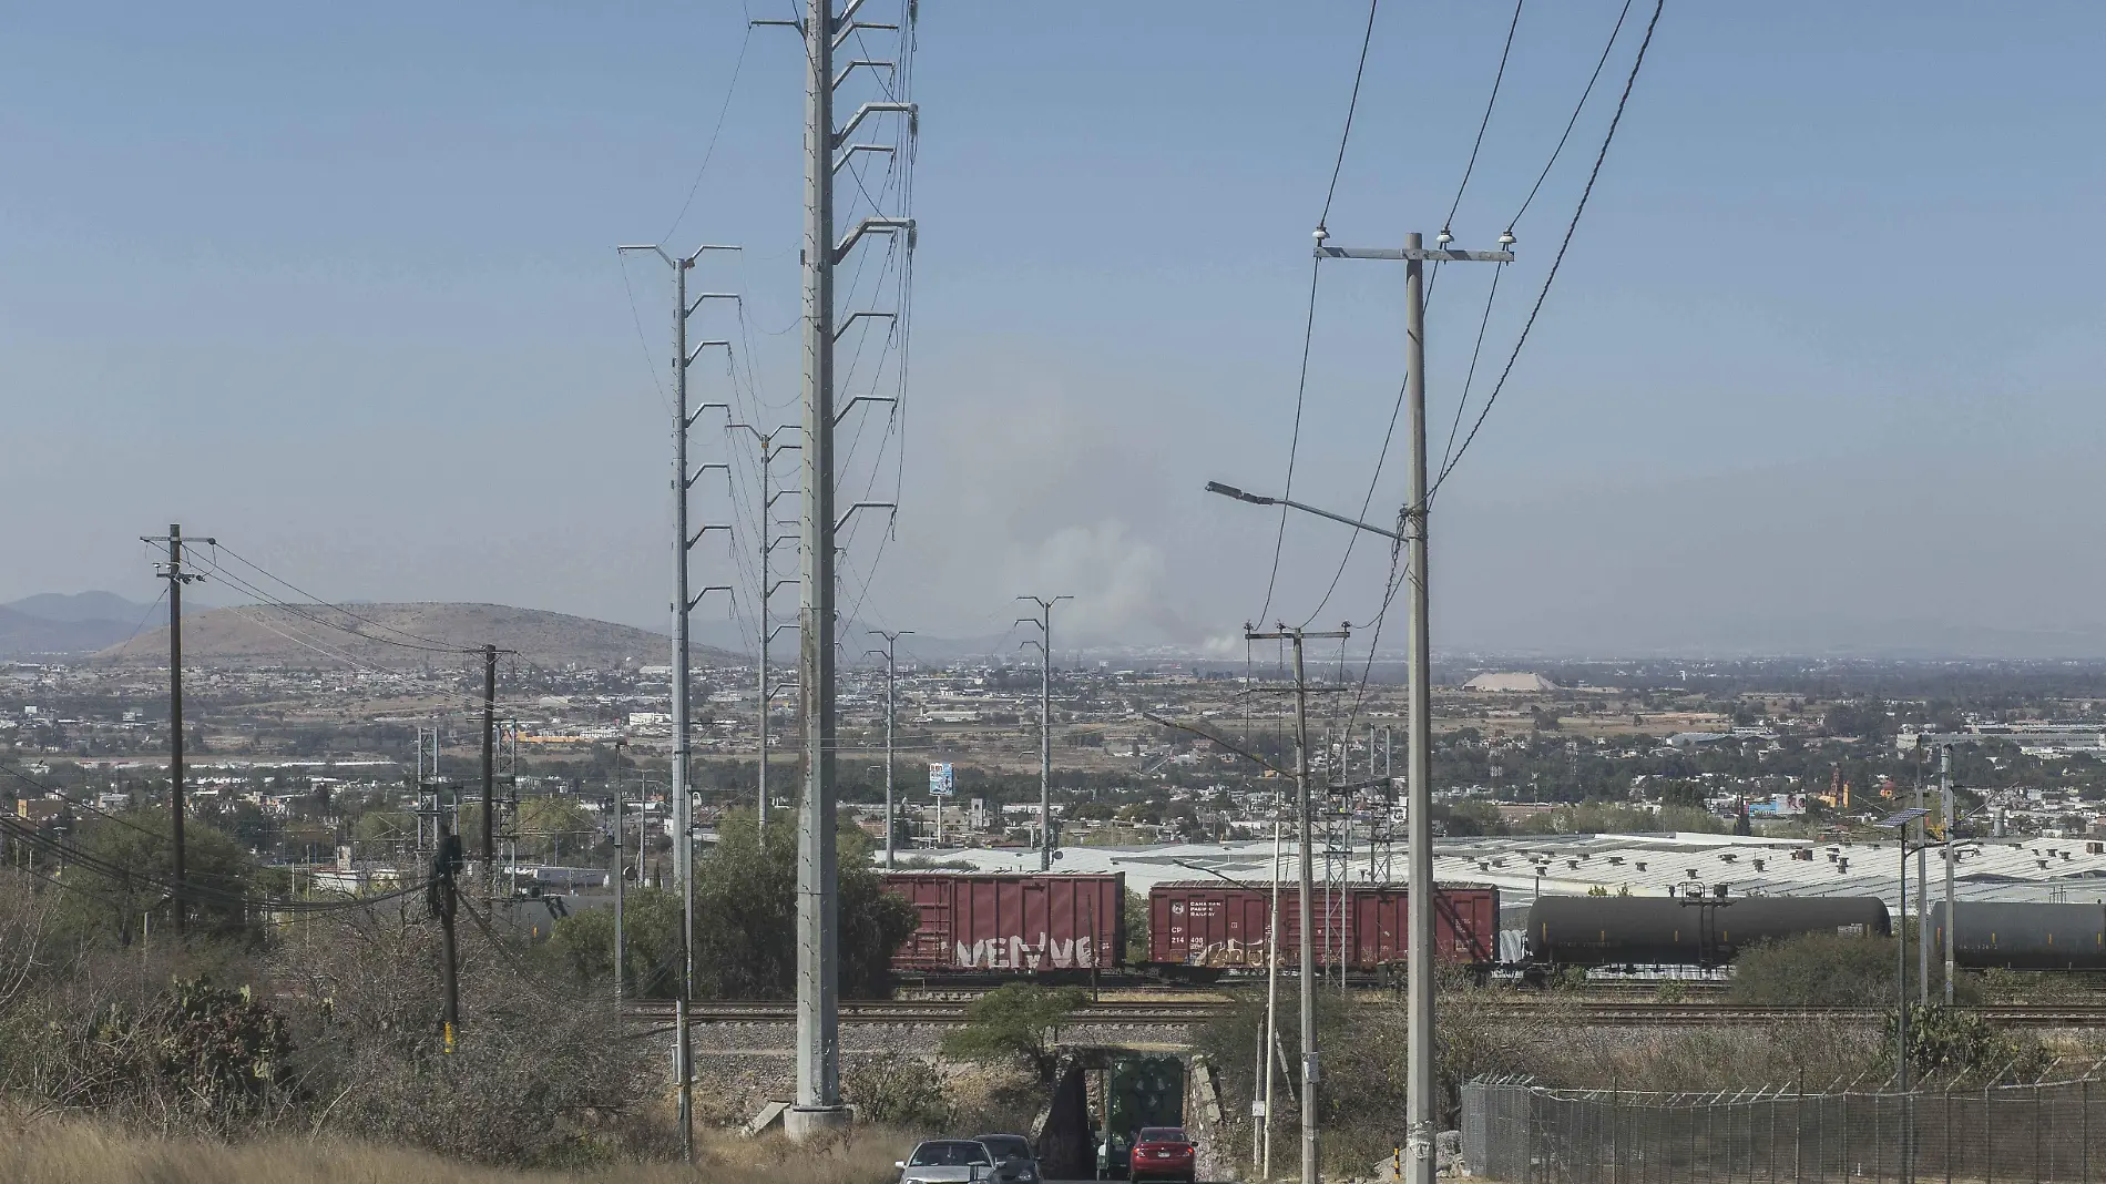
[[[1523,8],[1464,244],[1512,217],[1617,8]],[[1649,8],[1516,228],[1481,369],[1542,282]],[[1441,228],[1510,13],[1382,6],[1335,242]],[[998,632],[1015,592],[1076,592],[1078,636],[1228,636],[1264,600],[1272,518],[1200,487],[1283,476],[1365,6],[920,15],[903,510],[863,615]],[[632,261],[625,284],[613,244],[674,225],[720,107],[670,240],[746,246],[708,282],[748,299],[777,404],[748,411],[794,413],[800,55],[746,17],[13,13],[0,598],[150,594],[131,539],[181,518],[329,596],[657,624],[665,272]],[[1670,2],[1558,284],[1443,493],[1436,645],[2106,645],[2102,32],[2083,4]],[[1487,280],[1436,287],[1443,426]],[[1325,268],[1310,501],[1367,495],[1400,289],[1392,265]],[[889,489],[899,461],[872,445],[855,463],[857,487]],[[1392,449],[1371,514],[1400,487]],[[1342,546],[1295,522],[1274,613],[1314,611]],[[874,554],[861,531],[857,581]],[[1365,621],[1384,571],[1356,556],[1323,619]]]

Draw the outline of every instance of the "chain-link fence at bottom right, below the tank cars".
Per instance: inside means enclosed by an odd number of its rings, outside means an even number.
[[[1508,1184],[2093,1180],[2106,1176],[2106,1083],[1632,1093],[1472,1081],[1462,1155]]]

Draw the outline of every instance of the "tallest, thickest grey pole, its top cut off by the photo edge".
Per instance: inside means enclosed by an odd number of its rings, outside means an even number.
[[[859,67],[882,72],[897,63],[857,59],[834,74],[834,44],[859,29],[899,29],[859,21],[861,0],[849,0],[842,17],[834,17],[832,0],[804,0],[802,19],[752,21],[752,25],[788,25],[804,38],[804,520],[800,539],[798,584],[798,695],[804,704],[804,801],[798,807],[798,950],[796,950],[796,1104],[783,1114],[783,1131],[792,1140],[836,1129],[851,1114],[840,1104],[840,946],[836,923],[840,914],[838,851],[834,841],[834,535],[859,508],[855,504],[836,520],[834,512],[834,426],[855,402],[878,400],[861,396],[849,407],[834,404],[834,265],[847,259],[868,234],[906,232],[908,253],[914,251],[914,219],[870,215],[857,221],[840,240],[834,238],[834,173],[857,152],[893,152],[889,145],[849,143],[849,137],[878,114],[908,116],[906,135],[914,135],[914,103],[868,101],[855,116],[834,129],[834,88]],[[908,0],[906,25],[914,21]],[[912,44],[912,29],[901,32],[901,44]],[[849,322],[863,316],[895,316],[887,312],[851,312]]]

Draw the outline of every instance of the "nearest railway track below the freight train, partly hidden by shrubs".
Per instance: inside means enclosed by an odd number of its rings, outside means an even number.
[[[962,1024],[965,1001],[868,1001],[842,1003],[842,1024]],[[1070,1024],[1205,1024],[1230,1009],[1228,1001],[1099,1001],[1082,1007]],[[1573,1028],[1748,1028],[1763,1024],[1834,1022],[1883,1024],[1881,1007],[1750,1007],[1742,1003],[1622,1003],[1603,999],[1535,996],[1499,1003],[1472,1003],[1470,1015],[1518,1022],[1565,1024]],[[2013,1028],[2106,1028],[2106,1003],[2003,1003],[1969,1007],[1967,1011],[1992,1024]],[[670,1024],[674,1005],[665,999],[634,1001],[630,1020]],[[790,1024],[792,1003],[695,1003],[689,1015],[697,1024]]]

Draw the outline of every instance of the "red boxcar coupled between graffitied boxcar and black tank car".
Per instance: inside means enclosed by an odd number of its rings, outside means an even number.
[[[1344,897],[1344,910],[1339,908]],[[1310,904],[1316,912],[1316,965],[1337,965],[1342,923],[1346,965],[1371,971],[1403,963],[1407,948],[1403,887],[1318,887]],[[1295,965],[1302,942],[1297,889],[1280,889],[1280,965]],[[1234,969],[1266,965],[1266,919],[1272,889],[1236,887],[1219,881],[1156,885],[1148,893],[1148,961],[1158,965]],[[1344,921],[1342,921],[1344,919]],[[1434,956],[1453,965],[1489,965],[1499,952],[1499,889],[1434,889]]]

